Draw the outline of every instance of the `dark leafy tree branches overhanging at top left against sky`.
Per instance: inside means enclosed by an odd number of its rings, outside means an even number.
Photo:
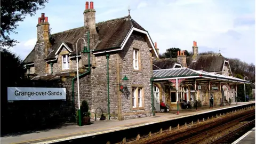
[[[35,15],[37,10],[45,7],[48,0],[1,0],[1,47],[13,47],[17,40],[10,37],[11,33],[17,34],[15,29],[18,22],[23,21],[27,14]]]

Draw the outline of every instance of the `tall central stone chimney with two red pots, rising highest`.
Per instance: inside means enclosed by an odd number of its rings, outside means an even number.
[[[93,8],[93,2],[85,2],[85,11],[84,11],[84,29],[85,31],[90,31],[90,49],[97,44],[99,35],[96,30],[95,25],[95,9]]]

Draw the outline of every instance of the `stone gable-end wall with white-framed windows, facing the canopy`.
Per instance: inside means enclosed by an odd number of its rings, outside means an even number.
[[[151,87],[150,77],[153,74],[152,58],[145,36],[134,33],[130,36],[123,51],[119,54],[119,78],[125,75],[129,78],[127,88],[130,95],[126,97],[121,93],[122,99],[122,119],[131,119],[138,117],[146,117],[151,115]],[[133,70],[133,49],[139,50],[139,70]],[[123,83],[123,81],[121,81]],[[135,110],[132,108],[132,86],[143,86],[144,100],[142,100],[142,108]]]

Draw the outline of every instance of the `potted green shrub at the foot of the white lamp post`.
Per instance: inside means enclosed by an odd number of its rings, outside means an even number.
[[[82,114],[82,119],[83,119],[83,124],[90,124],[90,119],[91,119],[91,113],[89,111],[89,106],[86,100],[82,101],[82,106],[81,106],[81,114]]]

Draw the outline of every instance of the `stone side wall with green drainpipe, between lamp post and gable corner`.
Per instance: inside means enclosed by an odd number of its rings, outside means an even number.
[[[97,66],[91,72],[92,89],[92,107],[95,112],[97,108],[102,109],[106,118],[108,117],[108,94],[107,94],[107,59],[106,55],[97,55],[95,57]],[[116,54],[110,54],[109,57],[109,99],[110,116],[117,117],[117,70]],[[97,110],[98,111],[98,110]],[[99,111],[98,111],[99,112]],[[97,113],[98,113],[97,112]]]

